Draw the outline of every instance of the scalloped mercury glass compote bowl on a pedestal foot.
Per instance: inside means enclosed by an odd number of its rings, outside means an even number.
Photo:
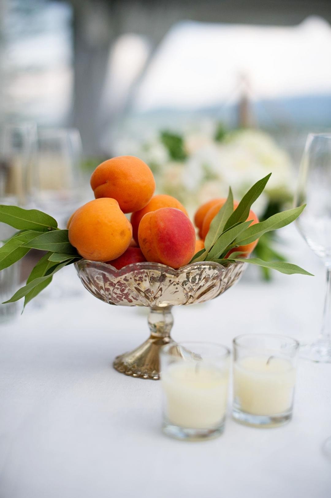
[[[241,276],[245,263],[222,266],[195,262],[175,270],[159,263],[133,263],[117,270],[108,263],[81,259],[75,263],[84,287],[116,306],[148,306],[149,338],[117,356],[113,367],[132,377],[159,379],[159,350],[172,342],[172,306],[203,303],[219,296]]]

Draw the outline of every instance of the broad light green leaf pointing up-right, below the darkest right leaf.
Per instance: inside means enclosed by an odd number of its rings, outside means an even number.
[[[289,225],[301,215],[305,206],[306,205],[304,204],[298,208],[282,211],[281,213],[270,216],[270,218],[265,221],[255,223],[255,225],[248,227],[240,237],[237,237],[235,243],[238,246],[245,246],[246,244],[256,241],[261,235],[270,232],[271,230],[278,230],[279,228]]]

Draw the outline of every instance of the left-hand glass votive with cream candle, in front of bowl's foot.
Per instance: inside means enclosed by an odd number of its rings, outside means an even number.
[[[224,429],[230,351],[203,342],[171,343],[160,353],[165,434],[209,439]]]

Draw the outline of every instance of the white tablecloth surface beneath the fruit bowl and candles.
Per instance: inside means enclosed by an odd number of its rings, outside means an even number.
[[[270,284],[248,271],[220,298],[174,309],[173,338],[228,346],[244,332],[315,338],[324,268],[293,230],[283,237],[289,259],[315,278],[277,273]],[[228,417],[218,439],[171,440],[160,431],[160,382],[111,368],[147,337],[146,310],[97,300],[73,267],[54,283],[52,300],[40,296],[0,328],[1,498],[331,496],[322,451],[331,436],[331,364],[299,362],[294,417],[284,427]]]

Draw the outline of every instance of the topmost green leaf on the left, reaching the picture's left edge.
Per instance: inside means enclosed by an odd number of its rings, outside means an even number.
[[[3,204],[0,205],[0,222],[17,228],[17,230],[46,232],[57,228],[56,220],[42,211]]]

